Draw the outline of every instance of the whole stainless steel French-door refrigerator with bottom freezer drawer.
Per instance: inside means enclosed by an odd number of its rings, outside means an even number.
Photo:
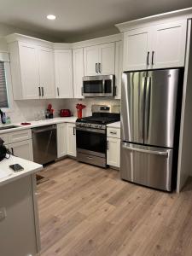
[[[123,73],[120,177],[172,190],[180,69]],[[177,118],[176,118],[177,117]],[[175,172],[176,170],[174,170]]]

